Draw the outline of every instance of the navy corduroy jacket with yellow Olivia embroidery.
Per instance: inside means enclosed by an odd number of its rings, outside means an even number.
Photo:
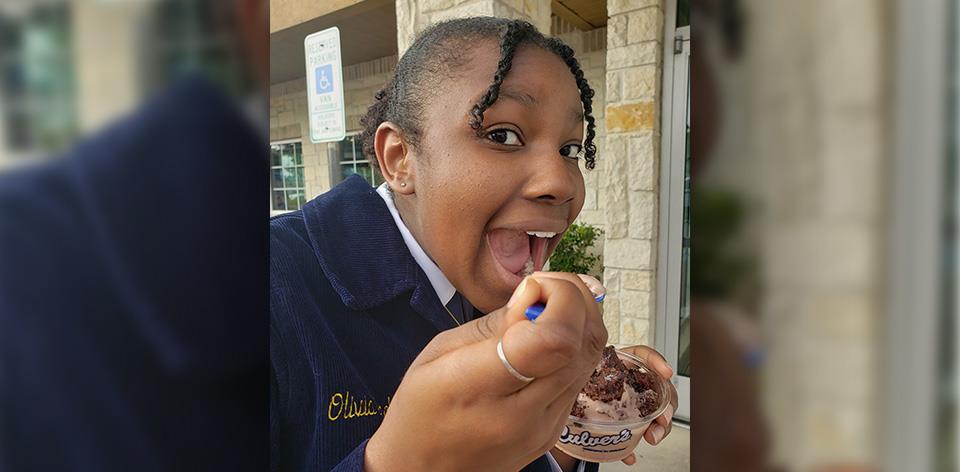
[[[359,176],[270,229],[272,469],[362,470],[403,374],[455,323]]]

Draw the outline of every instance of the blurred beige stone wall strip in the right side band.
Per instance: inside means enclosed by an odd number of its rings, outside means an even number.
[[[877,407],[877,299],[887,276],[878,256],[889,24],[876,2],[748,4],[774,457],[788,470],[869,464],[887,416]]]

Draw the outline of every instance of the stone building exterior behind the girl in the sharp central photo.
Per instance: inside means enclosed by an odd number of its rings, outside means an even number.
[[[374,93],[416,32],[436,21],[474,15],[522,18],[558,36],[577,52],[596,91],[597,167],[584,169],[587,195],[579,221],[604,230],[605,322],[611,342],[653,344],[659,169],[663,108],[661,77],[665,18],[659,1],[364,0],[271,6],[270,139],[274,153],[272,209],[303,202],[359,173],[378,184],[354,135]],[[672,16],[671,16],[672,15]],[[307,137],[303,38],[338,26],[343,44],[347,138],[311,143]],[[354,46],[355,43],[357,44]]]

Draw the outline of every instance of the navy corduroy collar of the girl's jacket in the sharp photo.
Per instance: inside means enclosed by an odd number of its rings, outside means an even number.
[[[451,326],[376,189],[352,175],[303,207],[320,267],[344,305],[369,310],[410,294],[411,306],[440,329]]]

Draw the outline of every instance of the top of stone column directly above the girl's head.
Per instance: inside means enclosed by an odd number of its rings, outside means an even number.
[[[397,50],[400,56],[417,33],[451,18],[496,16],[527,20],[550,34],[550,0],[397,0]]]

